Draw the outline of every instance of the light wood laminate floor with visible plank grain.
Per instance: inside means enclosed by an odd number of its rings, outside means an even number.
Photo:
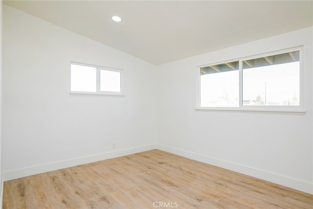
[[[313,209],[313,195],[160,150],[4,182],[3,209]]]

